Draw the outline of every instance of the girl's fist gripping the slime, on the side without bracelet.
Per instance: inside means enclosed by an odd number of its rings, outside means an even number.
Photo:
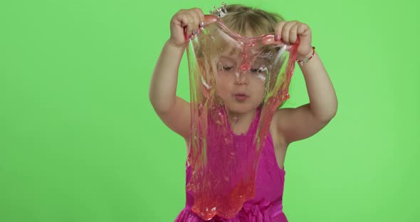
[[[204,27],[204,14],[201,9],[181,9],[171,19],[169,43],[184,48],[186,40],[198,34]]]

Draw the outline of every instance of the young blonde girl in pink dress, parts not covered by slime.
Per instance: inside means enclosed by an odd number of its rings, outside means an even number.
[[[296,108],[277,110],[269,126],[256,176],[256,195],[243,203],[233,218],[214,216],[211,221],[287,221],[283,213],[284,160],[291,142],[305,139],[327,125],[337,112],[337,97],[320,57],[311,45],[308,25],[299,21],[283,21],[281,16],[242,5],[226,6],[221,20],[234,31],[247,37],[274,33],[273,41],[294,44],[300,41],[297,60],[305,78],[310,102]],[[180,10],[172,17],[171,36],[165,43],[154,69],[149,99],[161,120],[184,137],[187,153],[191,142],[191,109],[189,102],[177,97],[177,75],[186,42],[206,26],[201,9]],[[187,36],[187,40],[186,37]],[[260,80],[247,75],[225,77],[218,85],[233,134],[247,136],[255,132],[258,106],[263,100]],[[239,93],[240,92],[240,93]],[[246,92],[246,93],[243,93]],[[189,163],[187,163],[189,165]],[[187,166],[187,183],[191,169]],[[187,193],[185,208],[176,221],[204,221],[191,211],[194,199]]]

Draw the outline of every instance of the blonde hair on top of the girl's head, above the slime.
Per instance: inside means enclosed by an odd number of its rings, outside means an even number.
[[[227,5],[228,13],[221,18],[221,21],[231,28],[232,31],[245,36],[247,29],[253,31],[257,36],[274,33],[275,26],[284,18],[279,14],[252,8],[241,4]]]

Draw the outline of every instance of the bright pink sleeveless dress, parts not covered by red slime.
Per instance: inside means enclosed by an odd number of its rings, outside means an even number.
[[[234,141],[241,141],[246,138],[253,137],[258,126],[259,115],[256,115],[250,128],[246,134],[234,135]],[[186,174],[188,184],[191,178],[191,167],[187,166],[186,163]],[[284,168],[284,167],[283,167]],[[287,222],[285,214],[283,213],[283,187],[285,180],[285,171],[278,167],[274,146],[273,138],[268,133],[266,142],[264,143],[263,150],[261,152],[260,161],[258,163],[258,169],[256,174],[256,195],[253,199],[243,203],[241,211],[236,216],[230,219],[221,218],[220,216],[214,216],[210,221],[224,221],[224,222]],[[199,222],[204,221],[203,218],[199,217],[191,211],[191,206],[194,204],[194,198],[187,191],[187,203],[185,208],[179,213],[175,222]]]

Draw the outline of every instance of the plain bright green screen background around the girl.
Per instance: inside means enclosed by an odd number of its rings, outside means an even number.
[[[416,1],[228,1],[308,23],[338,112],[290,144],[289,221],[419,221]],[[170,18],[221,1],[1,1],[0,221],[174,221],[186,148],[149,81]],[[178,94],[189,100],[187,60]],[[296,68],[285,107],[309,102]]]

